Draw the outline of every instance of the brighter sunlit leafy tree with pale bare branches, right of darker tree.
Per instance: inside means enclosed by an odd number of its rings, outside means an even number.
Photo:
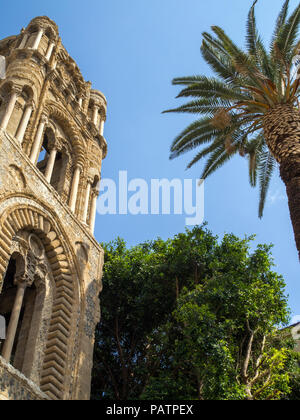
[[[160,345],[152,347],[152,357],[160,368],[143,398],[276,400],[289,395],[291,349],[276,329],[289,318],[284,287],[271,271],[269,247],[249,254],[247,240],[225,236],[212,276],[186,289],[172,318],[154,332]]]

